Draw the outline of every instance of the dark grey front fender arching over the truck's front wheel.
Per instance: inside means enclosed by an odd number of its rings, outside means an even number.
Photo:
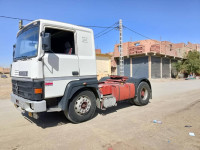
[[[98,80],[97,78],[87,78],[80,79],[76,81],[71,81],[67,84],[65,88],[65,93],[62,99],[60,100],[58,107],[62,110],[68,109],[68,104],[73,95],[81,89],[88,88],[94,92],[97,97],[100,97],[98,92]]]

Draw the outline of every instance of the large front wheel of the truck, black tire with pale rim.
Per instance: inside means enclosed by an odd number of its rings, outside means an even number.
[[[69,103],[65,116],[73,123],[91,119],[96,110],[96,97],[93,92],[84,90],[77,93]]]

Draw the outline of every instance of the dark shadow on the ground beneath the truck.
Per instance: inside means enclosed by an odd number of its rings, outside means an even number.
[[[116,107],[110,107],[106,110],[100,110],[97,109],[95,112],[95,115],[93,118],[97,117],[98,115],[109,115],[111,113],[117,112],[119,109],[127,108],[133,105],[130,105],[128,102],[123,102],[119,103]],[[39,119],[34,119],[32,117],[28,116],[28,113],[22,113],[24,118],[28,120],[31,123],[36,124],[37,126],[45,129],[45,128],[50,128],[50,127],[55,127],[55,126],[60,126],[60,125],[66,125],[68,123],[71,123],[64,115],[63,112],[43,112],[39,113]]]

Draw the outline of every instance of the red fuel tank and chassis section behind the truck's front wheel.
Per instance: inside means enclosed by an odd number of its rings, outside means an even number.
[[[112,95],[116,101],[122,101],[135,97],[135,85],[126,83],[127,77],[111,78],[99,83],[99,91],[103,96]]]

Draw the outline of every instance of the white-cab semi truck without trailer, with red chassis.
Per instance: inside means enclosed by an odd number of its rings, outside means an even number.
[[[93,30],[39,19],[23,26],[13,46],[11,101],[38,119],[39,113],[63,111],[73,123],[91,119],[96,109],[119,102],[147,105],[147,78],[96,74]]]

